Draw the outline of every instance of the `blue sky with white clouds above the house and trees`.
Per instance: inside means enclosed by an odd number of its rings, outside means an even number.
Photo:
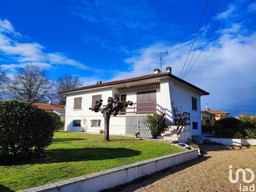
[[[0,68],[12,78],[29,63],[84,86],[170,66],[210,93],[202,109],[255,115],[256,2],[1,1]]]

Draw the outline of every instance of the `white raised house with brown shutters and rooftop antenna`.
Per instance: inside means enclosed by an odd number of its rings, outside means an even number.
[[[148,134],[145,125],[147,114],[163,112],[167,124],[174,125],[175,108],[180,109],[181,113],[190,113],[191,134],[201,134],[200,97],[209,95],[195,85],[173,76],[171,67],[166,67],[166,72],[155,69],[154,74],[106,83],[98,81],[97,84],[58,93],[67,97],[66,131],[85,129],[88,132],[99,132],[99,129],[104,129],[102,113],[95,113],[89,108],[94,106],[96,100],[102,99],[102,103],[107,104],[108,97],[113,97],[124,102],[131,100],[134,104],[120,115],[111,116],[109,133],[132,135],[140,132],[141,136]]]

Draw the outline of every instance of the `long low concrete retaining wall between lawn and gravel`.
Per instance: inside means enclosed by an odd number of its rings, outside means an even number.
[[[138,163],[132,163],[110,170],[92,173],[73,179],[62,180],[36,188],[22,190],[28,191],[51,191],[51,192],[70,192],[70,191],[100,191],[102,189],[114,188],[120,184],[131,182],[144,175],[158,172],[170,166],[184,163],[198,157],[198,150],[191,149],[177,154],[172,154],[155,159],[149,159]]]

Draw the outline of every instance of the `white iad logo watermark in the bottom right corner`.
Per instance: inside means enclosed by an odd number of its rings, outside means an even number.
[[[243,181],[245,183],[250,183],[250,182],[253,182],[254,180],[254,173],[252,170],[246,168],[245,170],[244,169],[238,169],[236,171],[236,179],[233,180],[232,178],[232,165],[229,166],[230,170],[229,170],[229,180],[230,182],[232,183],[237,183],[238,180],[239,180],[239,173],[243,173]],[[246,172],[249,172],[250,175],[251,175],[251,179],[249,180],[246,180]],[[255,191],[255,184],[252,184],[252,186],[242,186],[242,184],[239,184],[239,191]]]

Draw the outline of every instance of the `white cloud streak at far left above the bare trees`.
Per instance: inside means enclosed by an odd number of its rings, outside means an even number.
[[[19,38],[17,38],[19,36]],[[17,67],[24,67],[26,63],[34,63],[41,67],[50,68],[50,65],[71,65],[80,69],[88,69],[83,63],[72,60],[60,52],[46,52],[45,47],[36,42],[22,43],[19,40],[22,36],[15,31],[12,23],[0,19],[0,55],[4,58],[1,67],[13,70]],[[10,61],[17,63],[7,64]],[[4,63],[6,61],[6,63]]]

